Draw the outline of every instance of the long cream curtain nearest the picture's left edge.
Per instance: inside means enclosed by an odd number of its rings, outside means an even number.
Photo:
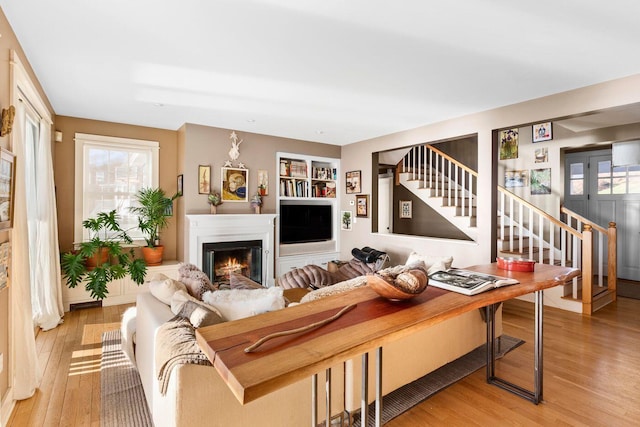
[[[13,126],[13,151],[16,155],[16,184],[13,230],[11,233],[11,295],[15,375],[13,395],[17,400],[33,396],[42,379],[38,364],[31,309],[31,270],[29,268],[29,230],[24,175],[24,105],[19,103]]]

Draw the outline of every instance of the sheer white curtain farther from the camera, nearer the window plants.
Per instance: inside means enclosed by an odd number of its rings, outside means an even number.
[[[32,179],[34,187],[27,189],[27,206],[30,213],[29,235],[33,254],[31,257],[33,320],[45,331],[62,323],[64,315],[50,128],[51,125],[48,123],[40,122],[40,139],[33,153],[35,164],[31,171],[35,173],[35,179]]]

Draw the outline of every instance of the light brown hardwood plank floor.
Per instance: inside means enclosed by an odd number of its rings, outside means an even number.
[[[119,326],[126,307],[67,313],[63,325],[38,335],[42,387],[18,403],[8,426],[99,426],[100,336]],[[503,320],[505,333],[526,344],[498,363],[498,375],[530,388],[532,304],[506,303]],[[640,300],[619,298],[593,317],[546,308],[544,337],[540,405],[488,385],[480,370],[388,426],[639,425]]]

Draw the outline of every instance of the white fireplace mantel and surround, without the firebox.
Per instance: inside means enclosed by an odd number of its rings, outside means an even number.
[[[262,283],[273,286],[275,220],[275,214],[186,215],[185,260],[202,269],[204,243],[262,240]]]

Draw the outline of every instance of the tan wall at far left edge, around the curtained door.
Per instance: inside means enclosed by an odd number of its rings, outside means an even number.
[[[42,90],[38,79],[36,78],[33,70],[31,69],[31,65],[29,64],[28,58],[22,51],[22,47],[18,42],[13,29],[9,25],[7,18],[4,15],[4,12],[0,9],[0,109],[7,108],[11,105],[11,79],[10,79],[10,59],[11,59],[11,51],[15,51],[22,65],[25,67],[29,76],[33,83],[36,85],[42,100],[45,102],[45,105],[51,115],[53,116],[53,109],[51,108],[51,104],[47,99],[44,91]],[[6,148],[8,150],[12,149],[12,141],[11,135],[9,134],[4,137],[0,137],[0,146]],[[19,159],[17,160],[20,161]],[[18,166],[19,167],[19,166]],[[0,231],[0,243],[4,243],[11,239],[10,231]],[[11,281],[11,277],[9,278],[11,283],[11,287],[8,289],[4,289],[0,291],[0,353],[4,356],[4,370],[0,373],[0,402],[4,400],[7,394],[7,390],[9,388],[9,367],[12,363],[11,360],[11,344],[10,344],[10,336],[9,331],[11,327],[11,310],[10,310],[10,299],[11,299],[11,288],[15,288],[17,286],[22,286],[21,283],[15,283]],[[0,420],[0,423],[2,421]]]

